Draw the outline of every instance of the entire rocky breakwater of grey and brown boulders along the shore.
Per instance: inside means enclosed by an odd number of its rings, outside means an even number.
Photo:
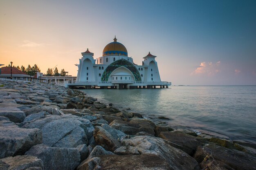
[[[0,79],[1,170],[247,170],[255,149],[156,125],[81,91]]]

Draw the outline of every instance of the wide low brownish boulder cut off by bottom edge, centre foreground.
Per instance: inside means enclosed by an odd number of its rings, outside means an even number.
[[[168,161],[157,155],[101,155],[86,159],[77,170],[176,170],[171,168]]]

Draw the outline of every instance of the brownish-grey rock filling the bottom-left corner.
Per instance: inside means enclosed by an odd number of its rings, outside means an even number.
[[[1,170],[28,170],[32,167],[43,170],[43,161],[41,159],[38,159],[37,157],[27,155],[18,155],[16,157],[6,157],[0,159]]]

